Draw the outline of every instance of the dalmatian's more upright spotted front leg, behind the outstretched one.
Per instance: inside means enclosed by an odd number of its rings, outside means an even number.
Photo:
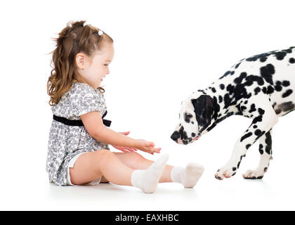
[[[261,158],[259,165],[254,170],[247,170],[243,174],[244,179],[262,179],[265,172],[268,170],[270,159],[272,158],[272,129],[266,134],[261,136],[259,139],[259,153],[261,153]]]

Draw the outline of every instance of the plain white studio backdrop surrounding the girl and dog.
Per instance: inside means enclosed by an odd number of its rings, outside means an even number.
[[[0,7],[0,210],[295,210],[294,114],[273,129],[273,158],[263,180],[242,179],[258,165],[257,143],[231,179],[216,170],[251,121],[233,116],[199,141],[169,138],[181,101],[238,60],[294,46],[294,1],[5,1]],[[69,20],[87,20],[114,39],[105,98],[115,131],[155,141],[169,164],[204,165],[193,189],[58,187],[45,171],[52,114],[46,82],[51,55]],[[140,153],[157,160],[159,155]]]

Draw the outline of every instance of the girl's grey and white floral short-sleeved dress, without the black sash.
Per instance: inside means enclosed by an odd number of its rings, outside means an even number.
[[[81,120],[80,115],[92,111],[103,116],[107,107],[105,98],[99,89],[89,84],[74,82],[72,87],[60,98],[57,105],[51,107],[53,115],[68,120]],[[93,139],[85,127],[70,126],[53,120],[48,139],[46,171],[49,181],[58,185],[67,185],[67,166],[79,153],[108,149],[106,143]]]

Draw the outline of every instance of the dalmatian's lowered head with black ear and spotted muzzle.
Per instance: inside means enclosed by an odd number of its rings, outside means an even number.
[[[179,123],[171,139],[180,144],[192,143],[210,127],[214,115],[214,99],[197,91],[181,103]]]

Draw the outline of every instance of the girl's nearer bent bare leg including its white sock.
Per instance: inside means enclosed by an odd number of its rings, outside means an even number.
[[[84,153],[70,168],[72,184],[87,184],[104,176],[107,181],[125,186],[136,186],[145,193],[153,193],[164,171],[168,155],[162,155],[148,169],[131,169],[110,150]]]

